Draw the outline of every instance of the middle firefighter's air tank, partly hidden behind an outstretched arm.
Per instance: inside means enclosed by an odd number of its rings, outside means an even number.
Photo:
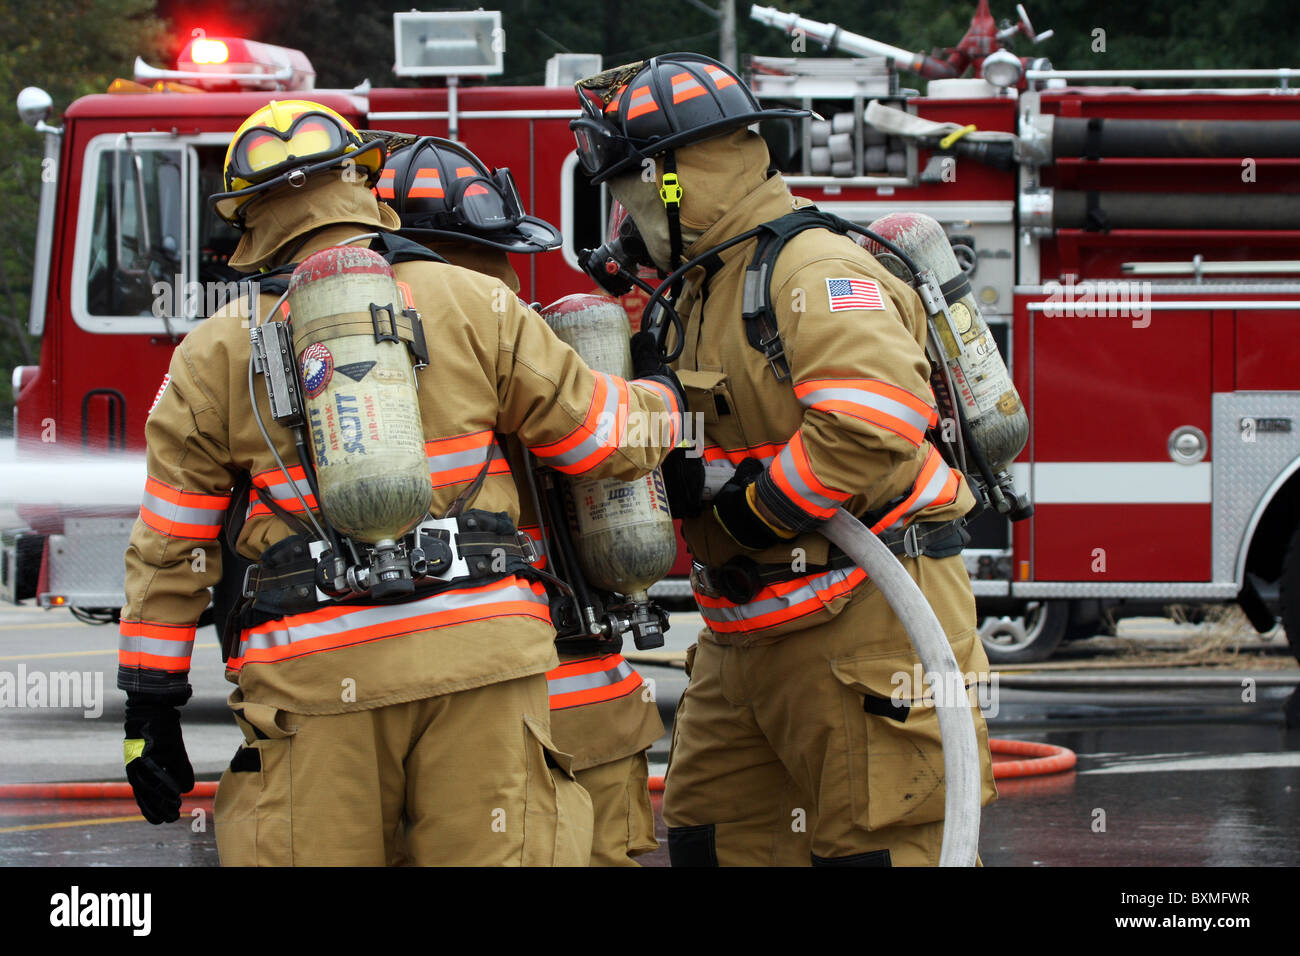
[[[566,295],[541,311],[551,330],[597,372],[632,377],[628,313],[604,295]],[[651,423],[653,424],[653,423]],[[663,476],[638,481],[566,477],[573,546],[590,584],[646,601],[677,559]]]

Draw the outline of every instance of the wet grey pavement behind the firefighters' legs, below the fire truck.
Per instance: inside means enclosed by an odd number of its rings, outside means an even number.
[[[696,620],[673,615],[668,649],[690,643]],[[122,779],[114,653],[113,628],[86,627],[62,611],[0,609],[0,671],[77,674],[86,691],[78,706],[0,706],[0,783]],[[216,779],[239,735],[211,631],[200,632],[195,662],[186,743],[198,777]],[[1031,682],[1004,672],[992,735],[1067,747],[1079,760],[1069,773],[998,783],[1000,800],[983,814],[984,864],[1300,865],[1300,730],[1284,726],[1300,669],[1280,656],[1260,665],[1226,671],[1216,687],[1161,683],[1216,672],[1204,667],[1108,667],[1096,676],[1087,659],[1071,659],[1041,672],[1097,683],[1061,689],[1019,685]],[[685,675],[672,666],[638,670],[654,679],[670,722]],[[1144,683],[1126,685],[1124,675]],[[667,736],[651,749],[651,773],[666,760]],[[666,865],[667,852],[642,862]],[[214,866],[212,801],[187,800],[181,821],[153,827],[129,799],[0,800],[0,865]]]

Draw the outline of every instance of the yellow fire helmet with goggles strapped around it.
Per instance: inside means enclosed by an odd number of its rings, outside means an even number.
[[[235,130],[226,150],[225,193],[211,198],[226,222],[242,229],[243,207],[280,186],[302,186],[308,176],[352,161],[367,185],[378,179],[387,150],[381,139],[364,142],[352,125],[311,100],[272,100]]]

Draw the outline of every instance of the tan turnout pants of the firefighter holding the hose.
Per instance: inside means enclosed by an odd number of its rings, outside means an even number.
[[[902,562],[966,683],[987,680],[961,557]],[[706,628],[688,656],[663,808],[673,865],[936,865],[939,718],[884,596],[866,581],[828,622],[760,640]],[[972,715],[989,804],[988,730]]]

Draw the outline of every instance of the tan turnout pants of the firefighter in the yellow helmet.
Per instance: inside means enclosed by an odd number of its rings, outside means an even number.
[[[230,706],[222,865],[588,864],[592,801],[551,744],[542,674],[344,714]]]

